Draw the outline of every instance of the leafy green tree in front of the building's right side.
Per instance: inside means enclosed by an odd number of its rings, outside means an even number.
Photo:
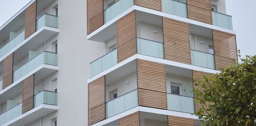
[[[195,115],[206,126],[256,126],[256,55],[203,76],[195,87],[195,102],[202,105]]]

